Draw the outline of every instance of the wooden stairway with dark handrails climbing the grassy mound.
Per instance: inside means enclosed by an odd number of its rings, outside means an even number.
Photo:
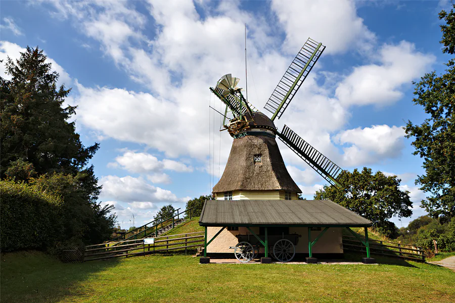
[[[138,238],[138,236],[141,236],[141,235],[143,235],[143,237],[145,237],[146,235],[152,233],[152,232],[147,233],[147,231],[150,231],[153,228],[155,228],[156,233],[158,233],[158,230],[162,229],[164,227],[167,227],[170,225],[172,225],[172,227],[174,227],[175,217],[177,217],[177,220],[180,220],[180,217],[183,218],[184,217],[183,215],[185,214],[185,215],[189,216],[189,218],[191,219],[192,210],[193,210],[193,208],[189,208],[184,212],[179,212],[180,208],[178,208],[171,213],[168,213],[159,218],[156,218],[155,220],[150,221],[149,223],[144,224],[138,228],[135,228],[123,235],[117,236],[117,237],[113,238],[111,241],[128,240],[131,238],[136,239],[136,238]],[[175,214],[175,212],[177,212],[177,213]],[[172,223],[170,223],[170,222],[172,222]],[[167,224],[167,223],[169,223],[169,224]],[[161,227],[159,227],[160,225],[161,225]]]

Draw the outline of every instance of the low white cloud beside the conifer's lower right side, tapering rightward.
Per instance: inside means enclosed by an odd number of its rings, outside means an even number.
[[[148,184],[142,177],[104,176],[100,179],[103,184],[101,197],[132,203],[141,202],[176,202],[179,199],[170,190]]]

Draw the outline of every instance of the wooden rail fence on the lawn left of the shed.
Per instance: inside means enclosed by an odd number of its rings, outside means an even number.
[[[85,246],[83,261],[145,256],[177,249],[187,253],[188,248],[195,249],[204,245],[204,232],[159,236],[153,239],[153,244],[146,244],[144,239],[135,239],[88,245]]]

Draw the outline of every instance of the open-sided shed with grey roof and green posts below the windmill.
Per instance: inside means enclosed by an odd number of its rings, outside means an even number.
[[[331,247],[340,245],[338,238],[341,241],[341,230],[346,228],[362,241],[366,246],[367,259],[371,259],[367,228],[372,226],[372,222],[330,200],[206,200],[199,225],[205,227],[205,258],[211,243],[212,251],[232,251],[241,242],[247,242],[253,246],[253,255],[264,255],[264,262],[269,261],[270,252],[275,259],[283,262],[289,260],[283,258],[281,253],[285,256],[292,254],[292,259],[297,252],[307,254],[308,263],[315,263],[313,246],[317,242],[325,242],[325,245],[319,245],[320,249],[335,249]],[[350,227],[365,228],[366,241],[360,239]],[[325,240],[323,236],[329,229],[334,230],[334,236],[326,236]],[[293,251],[282,252],[286,245],[292,246],[289,242],[293,244]],[[331,245],[333,242],[337,242],[335,246]],[[286,249],[289,250],[288,246]],[[330,252],[333,251],[327,251]],[[209,262],[208,258],[201,261]]]

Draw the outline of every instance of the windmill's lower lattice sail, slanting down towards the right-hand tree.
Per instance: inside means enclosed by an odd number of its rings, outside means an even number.
[[[308,144],[308,142],[303,140],[288,126],[285,125],[281,133],[278,132],[277,134],[278,137],[294,151],[294,153],[302,158],[330,184],[341,186],[336,179],[340,176],[343,169],[317,151],[316,148]]]

